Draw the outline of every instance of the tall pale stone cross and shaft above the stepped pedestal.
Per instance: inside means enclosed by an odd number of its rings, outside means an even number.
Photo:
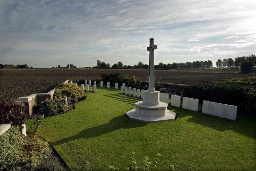
[[[154,69],[154,50],[157,49],[157,45],[154,45],[154,39],[149,39],[149,47],[147,50],[149,51],[149,86],[148,91],[155,91],[155,69]]]

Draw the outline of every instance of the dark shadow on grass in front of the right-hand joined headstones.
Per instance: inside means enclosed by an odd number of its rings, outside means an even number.
[[[238,121],[207,115],[201,112],[194,112],[191,110],[168,106],[169,110],[176,112],[178,115],[177,120],[186,116],[191,116],[187,122],[192,122],[206,126],[218,131],[232,130],[238,134],[256,139],[256,118],[237,114]]]

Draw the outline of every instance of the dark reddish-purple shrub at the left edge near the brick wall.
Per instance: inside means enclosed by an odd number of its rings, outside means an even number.
[[[23,111],[23,104],[14,99],[0,102],[0,124],[12,123],[12,126],[25,123],[27,114]]]

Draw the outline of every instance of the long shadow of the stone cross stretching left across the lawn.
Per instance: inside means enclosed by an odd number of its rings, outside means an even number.
[[[92,128],[87,128],[85,130],[82,130],[76,135],[61,139],[56,143],[62,144],[62,143],[66,143],[66,142],[73,141],[76,139],[81,139],[81,138],[84,138],[84,139],[95,138],[95,137],[113,132],[115,130],[138,128],[138,127],[143,127],[145,125],[147,125],[147,123],[132,121],[132,120],[129,120],[125,115],[120,115],[111,119],[109,123],[98,125]]]

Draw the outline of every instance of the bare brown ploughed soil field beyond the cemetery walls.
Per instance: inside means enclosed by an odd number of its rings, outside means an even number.
[[[0,69],[0,100],[47,93],[59,83],[75,77],[101,78],[102,73],[130,74],[147,80],[148,70],[134,69]],[[229,78],[253,77],[256,73],[242,74],[230,70],[155,70],[155,78],[162,77],[166,83],[205,84]],[[256,86],[251,86],[256,87]]]

